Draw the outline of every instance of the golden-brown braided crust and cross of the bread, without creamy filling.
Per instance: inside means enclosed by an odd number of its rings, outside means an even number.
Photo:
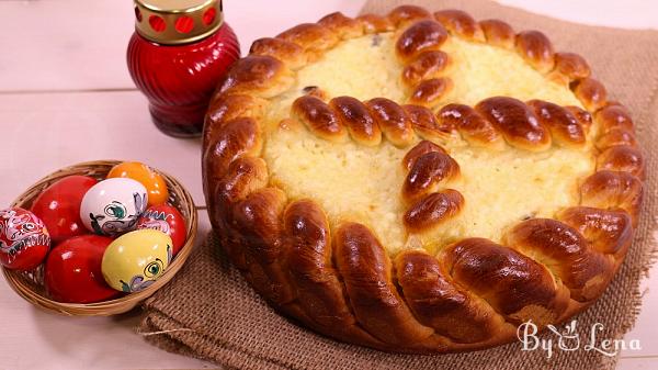
[[[393,35],[404,101],[332,96],[322,86],[287,97],[306,66],[375,34]],[[454,60],[444,44],[451,40],[517,53],[546,83],[570,90],[577,104],[498,96],[452,100],[461,81],[450,74]],[[266,122],[282,99],[290,109],[275,119],[274,131],[304,132],[318,145],[404,153],[390,175],[400,173],[399,200],[390,202],[399,206],[404,246],[384,245],[395,236],[377,235],[376,225],[358,216],[330,217],[319,200],[293,197],[290,184],[273,177],[264,147],[277,138]],[[446,229],[458,228],[451,222],[465,217],[474,192],[462,190],[472,172],[454,157],[461,149],[446,149],[454,141],[490,156],[542,158],[561,150],[595,159],[583,165],[589,173],[572,172],[580,177],[571,203],[497,229],[496,240],[469,235],[469,228],[455,236]],[[556,53],[541,32],[515,33],[502,21],[477,22],[458,10],[431,14],[406,5],[356,19],[333,13],[254,42],[219,83],[203,148],[211,221],[251,285],[314,330],[389,351],[491,347],[513,340],[522,322],[544,326],[583,310],[622,264],[643,198],[633,121],[608,100],[586,60]]]

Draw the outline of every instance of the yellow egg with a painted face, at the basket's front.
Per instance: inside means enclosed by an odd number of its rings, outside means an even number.
[[[103,255],[101,269],[110,287],[138,292],[158,280],[172,258],[169,235],[150,228],[117,237]]]

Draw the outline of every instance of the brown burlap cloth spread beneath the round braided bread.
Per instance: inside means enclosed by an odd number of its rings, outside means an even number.
[[[640,278],[654,247],[658,150],[658,32],[593,27],[556,21],[484,0],[406,1],[436,10],[458,8],[476,19],[499,18],[515,30],[545,32],[557,51],[582,54],[616,99],[633,112],[648,167],[644,216],[626,261],[605,294],[579,315],[582,339],[593,323],[600,338],[622,338],[640,307]],[[365,12],[385,12],[401,2],[370,1]],[[597,11],[592,9],[592,11]],[[292,24],[291,24],[292,25]],[[203,236],[202,236],[203,237]],[[175,279],[146,302],[139,333],[173,352],[240,369],[612,369],[616,357],[595,351],[522,351],[520,343],[468,354],[401,356],[327,339],[273,312],[242,280],[211,237],[198,247]],[[556,339],[556,338],[555,338]]]

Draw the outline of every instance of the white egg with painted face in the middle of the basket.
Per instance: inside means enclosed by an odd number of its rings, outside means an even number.
[[[98,235],[116,236],[135,229],[147,202],[146,188],[138,181],[107,179],[87,191],[80,205],[80,218]]]

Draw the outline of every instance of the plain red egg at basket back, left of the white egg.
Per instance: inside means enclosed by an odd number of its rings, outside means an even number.
[[[80,220],[80,203],[84,193],[97,182],[88,176],[68,176],[36,198],[32,212],[46,224],[53,243],[87,233]]]

